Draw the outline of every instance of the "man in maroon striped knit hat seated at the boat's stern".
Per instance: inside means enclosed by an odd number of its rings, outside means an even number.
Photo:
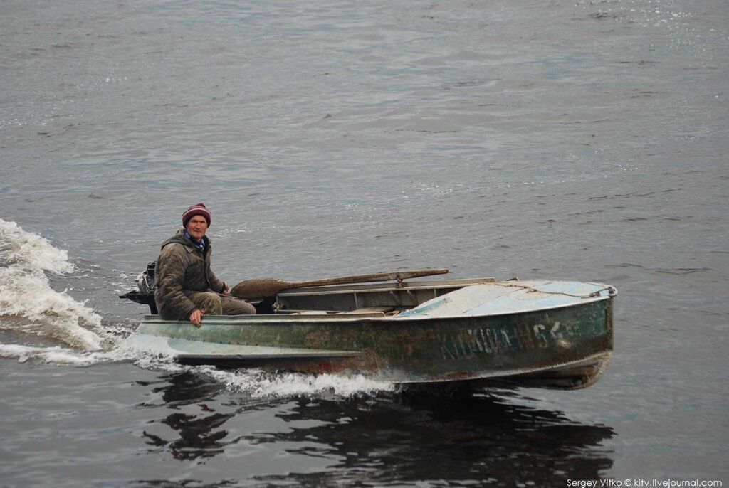
[[[230,295],[210,269],[210,210],[196,203],[182,213],[182,229],[162,244],[155,267],[155,302],[162,318],[190,320],[200,327],[203,315],[254,314],[252,304]]]

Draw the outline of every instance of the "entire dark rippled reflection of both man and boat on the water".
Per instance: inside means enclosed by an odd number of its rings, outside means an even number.
[[[284,454],[327,461],[326,468],[316,471],[249,480],[265,484],[381,485],[447,479],[451,484],[498,480],[507,485],[531,481],[565,486],[567,479],[599,479],[612,467],[612,452],[601,446],[614,435],[612,428],[527,406],[529,399],[515,391],[288,398],[269,400],[264,406],[242,394],[232,403],[222,403],[216,398],[222,393],[220,385],[191,372],[165,377],[152,391],[161,393],[163,406],[172,411],[161,422],[174,433],[145,431],[144,437],[154,449],[168,450],[177,460],[230,456],[237,446],[276,444]],[[226,428],[237,414],[276,404],[276,417],[284,428],[242,435]],[[183,406],[195,406],[198,413],[182,413]]]

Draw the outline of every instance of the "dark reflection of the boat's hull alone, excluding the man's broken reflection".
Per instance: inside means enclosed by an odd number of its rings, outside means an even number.
[[[340,458],[328,473],[295,475],[313,484],[445,478],[545,486],[555,476],[597,479],[612,465],[598,447],[612,429],[575,424],[558,412],[509,404],[496,395],[300,400],[286,419],[327,422],[272,436],[316,440],[320,445],[305,454]]]

